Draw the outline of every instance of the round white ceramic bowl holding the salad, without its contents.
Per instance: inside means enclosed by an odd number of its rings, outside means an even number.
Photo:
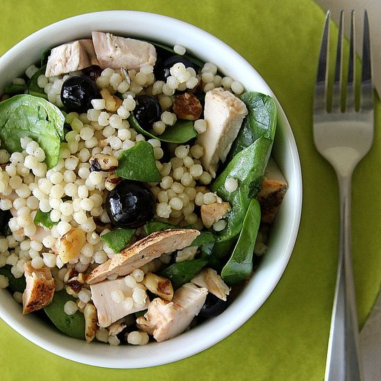
[[[181,44],[205,62],[214,62],[225,75],[239,80],[247,90],[274,97],[259,74],[232,48],[209,33],[183,21],[145,12],[109,11],[59,21],[33,33],[0,58],[0,89],[38,62],[45,48],[89,37],[92,30],[142,37],[169,46]],[[267,254],[244,290],[218,317],[206,321],[168,342],[147,346],[86,344],[44,324],[33,314],[22,316],[20,306],[0,290],[0,317],[31,342],[76,362],[108,368],[141,368],[174,362],[203,351],[227,337],[254,314],[274,290],[292,253],[301,216],[301,168],[292,130],[278,104],[278,130],[273,154],[289,189],[272,229]]]

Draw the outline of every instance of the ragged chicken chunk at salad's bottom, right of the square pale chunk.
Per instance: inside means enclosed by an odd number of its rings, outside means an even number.
[[[148,305],[148,312],[136,319],[141,330],[153,335],[157,342],[171,339],[188,328],[205,303],[206,288],[186,283],[169,303],[156,298]]]

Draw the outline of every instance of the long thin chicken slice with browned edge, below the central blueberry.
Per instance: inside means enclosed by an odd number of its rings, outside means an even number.
[[[170,253],[189,246],[199,235],[200,231],[195,229],[169,229],[154,232],[96,267],[89,274],[87,283],[103,281],[112,274],[130,274],[134,269],[139,269],[163,253]]]

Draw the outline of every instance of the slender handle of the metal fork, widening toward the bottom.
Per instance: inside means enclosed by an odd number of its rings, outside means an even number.
[[[325,381],[362,380],[351,253],[351,175],[339,176],[339,263]]]

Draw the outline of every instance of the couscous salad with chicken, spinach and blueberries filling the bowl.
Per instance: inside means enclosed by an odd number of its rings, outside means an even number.
[[[217,319],[287,192],[278,118],[180,44],[94,29],[42,51],[1,96],[0,287],[88,343]]]

